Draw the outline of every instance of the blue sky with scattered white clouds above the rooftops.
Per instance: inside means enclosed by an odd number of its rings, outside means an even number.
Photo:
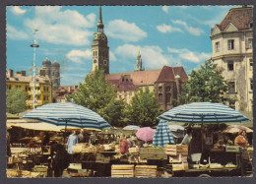
[[[187,74],[211,58],[211,28],[232,6],[102,6],[110,74],[132,72],[140,48],[146,70],[183,66]],[[92,71],[98,6],[7,7],[6,70],[36,67],[48,58],[61,66],[61,86],[78,85]]]

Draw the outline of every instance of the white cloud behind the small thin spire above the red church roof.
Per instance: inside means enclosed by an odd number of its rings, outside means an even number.
[[[171,63],[174,63],[173,58],[170,55],[164,55],[159,46],[143,46],[140,50],[142,62],[146,69],[158,69],[164,65],[171,66]],[[138,45],[124,44],[118,46],[115,53],[122,59],[134,59],[135,65]]]

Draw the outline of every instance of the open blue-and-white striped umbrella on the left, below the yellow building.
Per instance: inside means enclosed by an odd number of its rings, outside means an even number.
[[[35,119],[56,126],[87,129],[111,127],[96,112],[73,102],[47,103],[32,110],[23,118]]]

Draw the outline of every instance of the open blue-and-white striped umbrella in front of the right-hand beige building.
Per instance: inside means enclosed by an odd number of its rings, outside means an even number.
[[[159,118],[184,123],[228,123],[250,120],[222,103],[212,102],[193,102],[179,105],[162,113]]]

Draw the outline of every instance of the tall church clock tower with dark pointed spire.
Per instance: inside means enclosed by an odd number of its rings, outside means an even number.
[[[101,16],[101,6],[99,6],[99,17],[97,21],[97,31],[94,34],[93,42],[93,71],[96,69],[104,70],[105,74],[109,74],[109,47],[107,45],[107,37],[104,34],[104,25]]]

